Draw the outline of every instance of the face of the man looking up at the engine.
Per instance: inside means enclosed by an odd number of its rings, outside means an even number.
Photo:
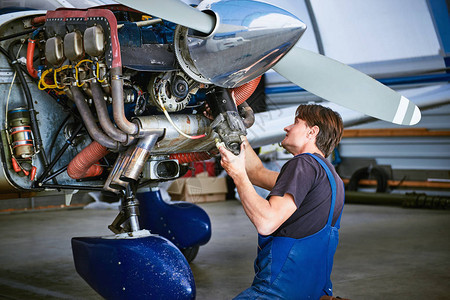
[[[306,125],[306,122],[295,118],[294,124],[285,127],[284,131],[286,131],[286,137],[281,142],[281,146],[294,155],[302,153],[308,141],[309,127]]]

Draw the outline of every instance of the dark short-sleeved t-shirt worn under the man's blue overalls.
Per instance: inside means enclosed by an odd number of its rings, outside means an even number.
[[[336,204],[332,225],[339,218],[344,205],[344,185],[333,165],[315,154],[330,168],[336,180]],[[324,168],[310,155],[298,155],[281,168],[274,188],[267,196],[294,197],[297,210],[272,236],[303,238],[321,230],[327,223],[331,207],[331,186]]]

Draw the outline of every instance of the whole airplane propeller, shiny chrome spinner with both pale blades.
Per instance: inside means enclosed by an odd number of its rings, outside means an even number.
[[[369,116],[402,125],[420,121],[419,108],[387,86],[293,47],[306,26],[276,6],[249,0],[205,0],[197,9],[178,0],[118,2],[186,27],[177,30],[176,54],[197,81],[232,88],[273,68],[323,99]]]

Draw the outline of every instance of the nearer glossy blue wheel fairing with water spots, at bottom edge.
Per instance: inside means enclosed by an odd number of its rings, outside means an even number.
[[[75,268],[105,299],[194,299],[183,254],[159,236],[72,239]]]

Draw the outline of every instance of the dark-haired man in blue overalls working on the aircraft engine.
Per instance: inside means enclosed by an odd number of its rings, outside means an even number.
[[[245,213],[258,231],[255,278],[235,299],[319,299],[332,295],[344,186],[326,160],[342,138],[342,119],[320,105],[300,105],[281,145],[294,155],[280,173],[265,169],[244,138],[235,156],[219,146]],[[267,200],[254,187],[270,190]]]

